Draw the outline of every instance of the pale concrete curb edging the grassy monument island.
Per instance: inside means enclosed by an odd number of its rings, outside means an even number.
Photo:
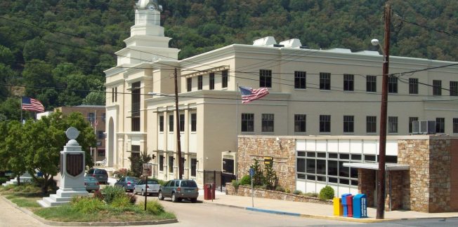
[[[41,216],[35,215],[29,209],[24,207],[19,207],[14,202],[11,202],[3,195],[0,196],[2,200],[8,202],[9,205],[19,209],[22,213],[32,216],[34,219],[37,219],[41,223],[44,223],[48,226],[146,226],[146,225],[162,225],[168,223],[178,223],[178,219],[166,219],[166,220],[157,220],[157,221],[117,221],[117,222],[60,222],[60,221],[48,221],[43,219]]]

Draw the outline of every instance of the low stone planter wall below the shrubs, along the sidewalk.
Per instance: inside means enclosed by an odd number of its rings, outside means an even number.
[[[239,195],[251,197],[251,187],[239,186],[239,188],[235,190],[232,184],[226,183],[225,188],[226,195]],[[294,195],[292,193],[284,193],[281,191],[270,191],[262,188],[255,188],[253,196],[256,198],[269,198],[274,200],[287,200],[294,202],[314,202],[332,205],[332,200],[320,200],[319,198],[315,197],[308,197],[305,195]]]

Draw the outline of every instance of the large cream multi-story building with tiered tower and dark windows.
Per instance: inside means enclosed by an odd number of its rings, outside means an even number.
[[[129,156],[143,152],[154,157],[155,177],[177,178],[179,133],[183,177],[202,184],[204,170],[221,170],[223,153],[237,152],[237,135],[378,135],[383,56],[377,51],[314,50],[269,36],[178,60],[159,7],[140,2],[117,67],[105,71],[107,167],[129,168]],[[434,121],[438,134],[458,134],[452,64],[390,57],[388,136],[409,135],[412,121]],[[270,94],[241,104],[238,86]]]

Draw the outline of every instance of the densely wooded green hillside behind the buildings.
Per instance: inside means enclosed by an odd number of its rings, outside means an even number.
[[[391,55],[457,61],[458,1],[393,0]],[[103,104],[103,70],[116,64],[133,25],[133,0],[0,1],[0,121],[18,119],[19,99],[46,109]],[[381,0],[159,1],[180,59],[232,43],[274,36],[310,48],[377,50]],[[4,84],[24,85],[23,92]],[[21,91],[22,91],[21,90]],[[11,92],[10,92],[11,91]],[[12,94],[13,93],[13,94]],[[10,99],[7,99],[10,97]],[[4,102],[6,101],[6,102]]]

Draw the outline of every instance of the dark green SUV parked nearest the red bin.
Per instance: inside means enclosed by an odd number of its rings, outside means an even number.
[[[191,202],[196,202],[199,196],[199,188],[194,180],[191,179],[174,179],[167,181],[164,186],[160,186],[157,198],[171,198],[172,202],[181,201],[186,198]]]

